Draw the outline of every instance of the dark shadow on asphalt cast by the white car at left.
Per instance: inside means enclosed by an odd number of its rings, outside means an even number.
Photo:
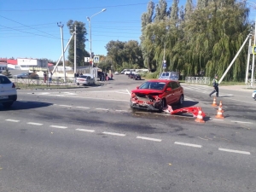
[[[17,110],[26,110],[31,108],[44,108],[53,105],[49,102],[26,102],[26,101],[16,101],[9,108],[3,108],[3,105],[0,104],[0,111],[17,111]]]

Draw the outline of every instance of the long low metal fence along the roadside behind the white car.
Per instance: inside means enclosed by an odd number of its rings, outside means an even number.
[[[12,82],[16,84],[17,87],[44,87],[44,86],[57,86],[57,87],[68,87],[75,85],[75,79],[74,78],[68,78],[66,81],[63,78],[52,78],[51,82],[49,82],[49,79],[44,81],[44,78],[39,79],[18,79],[13,78],[11,79]]]

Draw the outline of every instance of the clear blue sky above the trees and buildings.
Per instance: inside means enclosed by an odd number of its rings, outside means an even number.
[[[68,20],[85,23],[90,39],[87,17],[91,20],[91,49],[95,55],[107,55],[109,41],[137,40],[141,36],[141,16],[149,0],[0,0],[0,58],[47,58],[58,61],[61,56],[61,27],[64,47],[71,35]],[[158,1],[153,1],[155,4]],[[247,1],[248,2],[248,1]],[[172,1],[166,0],[167,7]],[[180,0],[179,6],[186,0]],[[195,2],[194,2],[195,3]],[[250,16],[256,16],[256,2],[250,1]],[[102,9],[107,9],[101,12]],[[97,14],[97,15],[95,15]],[[85,43],[90,53],[90,43]],[[65,53],[65,58],[67,58]]]

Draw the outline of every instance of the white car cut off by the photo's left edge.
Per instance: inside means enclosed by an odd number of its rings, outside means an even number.
[[[15,84],[8,77],[0,74],[0,103],[9,108],[17,100]]]

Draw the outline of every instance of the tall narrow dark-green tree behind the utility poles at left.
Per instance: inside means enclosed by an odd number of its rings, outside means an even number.
[[[69,28],[69,32],[72,35],[75,31],[76,26],[76,33],[77,33],[77,66],[84,66],[84,57],[90,56],[90,54],[85,50],[85,41],[87,40],[85,36],[87,35],[85,24],[80,21],[67,21],[67,27]],[[74,38],[71,40],[68,48],[68,61],[69,65],[73,67],[74,65]]]

